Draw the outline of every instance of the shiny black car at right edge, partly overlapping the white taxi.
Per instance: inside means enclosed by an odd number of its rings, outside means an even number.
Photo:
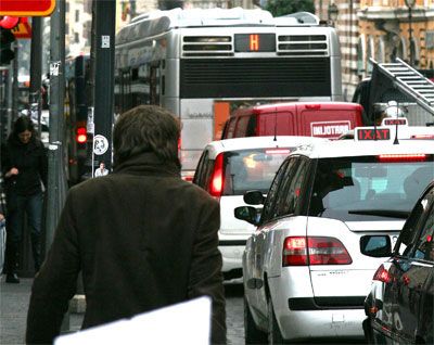
[[[392,256],[365,301],[370,344],[434,343],[434,181],[414,205],[393,252],[388,237],[366,237],[362,253]]]

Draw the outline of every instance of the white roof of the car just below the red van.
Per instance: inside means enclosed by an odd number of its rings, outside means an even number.
[[[213,159],[221,152],[267,148],[296,148],[303,144],[327,141],[329,140],[323,138],[302,136],[247,137],[212,141],[205,146],[205,150],[209,152],[209,158]]]

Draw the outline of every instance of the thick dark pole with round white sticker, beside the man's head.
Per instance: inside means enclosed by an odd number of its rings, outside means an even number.
[[[94,80],[94,136],[92,162],[112,169],[112,127],[114,117],[114,59],[116,0],[93,0],[92,79]],[[92,166],[92,176],[95,166]]]

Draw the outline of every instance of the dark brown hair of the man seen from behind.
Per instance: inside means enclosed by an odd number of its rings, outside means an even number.
[[[178,159],[179,122],[156,105],[139,105],[122,114],[113,131],[114,165],[142,152],[153,152],[163,162]]]

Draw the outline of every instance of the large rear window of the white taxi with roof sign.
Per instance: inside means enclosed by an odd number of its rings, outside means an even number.
[[[433,179],[432,156],[423,162],[321,158],[309,215],[344,221],[406,219]]]

